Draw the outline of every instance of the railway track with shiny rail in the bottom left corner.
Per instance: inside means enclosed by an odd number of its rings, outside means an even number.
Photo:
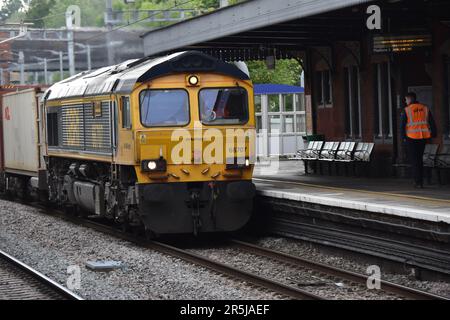
[[[82,298],[0,250],[0,300],[82,300]]]

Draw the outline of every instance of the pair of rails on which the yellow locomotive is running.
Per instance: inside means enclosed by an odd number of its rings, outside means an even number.
[[[40,207],[40,209],[43,209]],[[122,240],[130,241],[141,247],[156,250],[162,254],[169,255],[189,263],[207,268],[219,274],[226,275],[227,277],[234,278],[253,286],[260,287],[264,290],[269,290],[281,296],[298,299],[298,300],[325,300],[326,297],[317,295],[308,290],[296,288],[291,285],[287,285],[281,281],[276,281],[268,277],[260,276],[252,272],[242,270],[234,267],[229,263],[223,263],[215,259],[210,259],[205,255],[192,252],[191,250],[183,249],[179,246],[170,245],[153,240],[146,240],[142,237],[137,237],[130,233],[125,233],[122,230],[117,229],[114,226],[100,223],[97,221],[83,219],[76,216],[68,216],[60,211],[44,209],[47,214],[58,216],[65,220],[69,220],[78,225],[83,225],[89,228],[93,228],[96,231],[109,234],[114,237],[118,237]],[[345,280],[352,285],[366,286],[367,276],[349,272],[343,269],[338,269],[332,266],[316,263],[310,260],[305,260],[297,256],[292,256],[286,253],[273,251],[268,248],[256,246],[254,244],[243,242],[241,240],[231,239],[227,241],[230,246],[237,247],[240,250],[246,251],[253,255],[262,256],[268,259],[276,260],[279,263],[294,266],[300,269],[310,269],[319,274],[323,274],[327,277],[334,277],[338,280]],[[367,287],[365,287],[367,290]],[[428,292],[423,292],[413,288],[408,288],[395,283],[387,281],[381,281],[381,290],[378,290],[380,294],[386,295],[386,293],[395,295],[398,299],[417,299],[417,300],[448,300],[444,297],[434,295]]]

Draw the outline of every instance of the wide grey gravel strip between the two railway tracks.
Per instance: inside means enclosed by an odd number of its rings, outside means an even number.
[[[81,270],[85,299],[271,300],[281,297],[170,256],[0,200],[0,248],[66,285],[68,267]],[[87,261],[113,260],[125,266],[108,273]]]

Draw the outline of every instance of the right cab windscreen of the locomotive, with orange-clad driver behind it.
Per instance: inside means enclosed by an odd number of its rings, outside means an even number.
[[[203,89],[200,91],[199,104],[203,124],[248,122],[248,94],[244,88]]]

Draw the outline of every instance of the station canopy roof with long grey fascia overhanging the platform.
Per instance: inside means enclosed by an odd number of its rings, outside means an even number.
[[[142,35],[146,55],[201,50],[222,60],[298,58],[308,48],[360,41],[370,5],[381,8],[383,32],[429,31],[429,17],[448,23],[447,0],[252,0]]]

